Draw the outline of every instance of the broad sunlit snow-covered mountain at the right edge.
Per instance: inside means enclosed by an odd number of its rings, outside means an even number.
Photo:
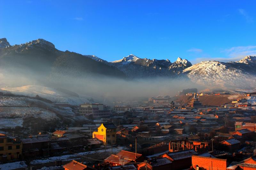
[[[183,70],[192,81],[208,87],[224,89],[255,89],[255,62],[246,63],[248,57],[239,62],[204,61]],[[252,61],[252,60],[249,60]]]

